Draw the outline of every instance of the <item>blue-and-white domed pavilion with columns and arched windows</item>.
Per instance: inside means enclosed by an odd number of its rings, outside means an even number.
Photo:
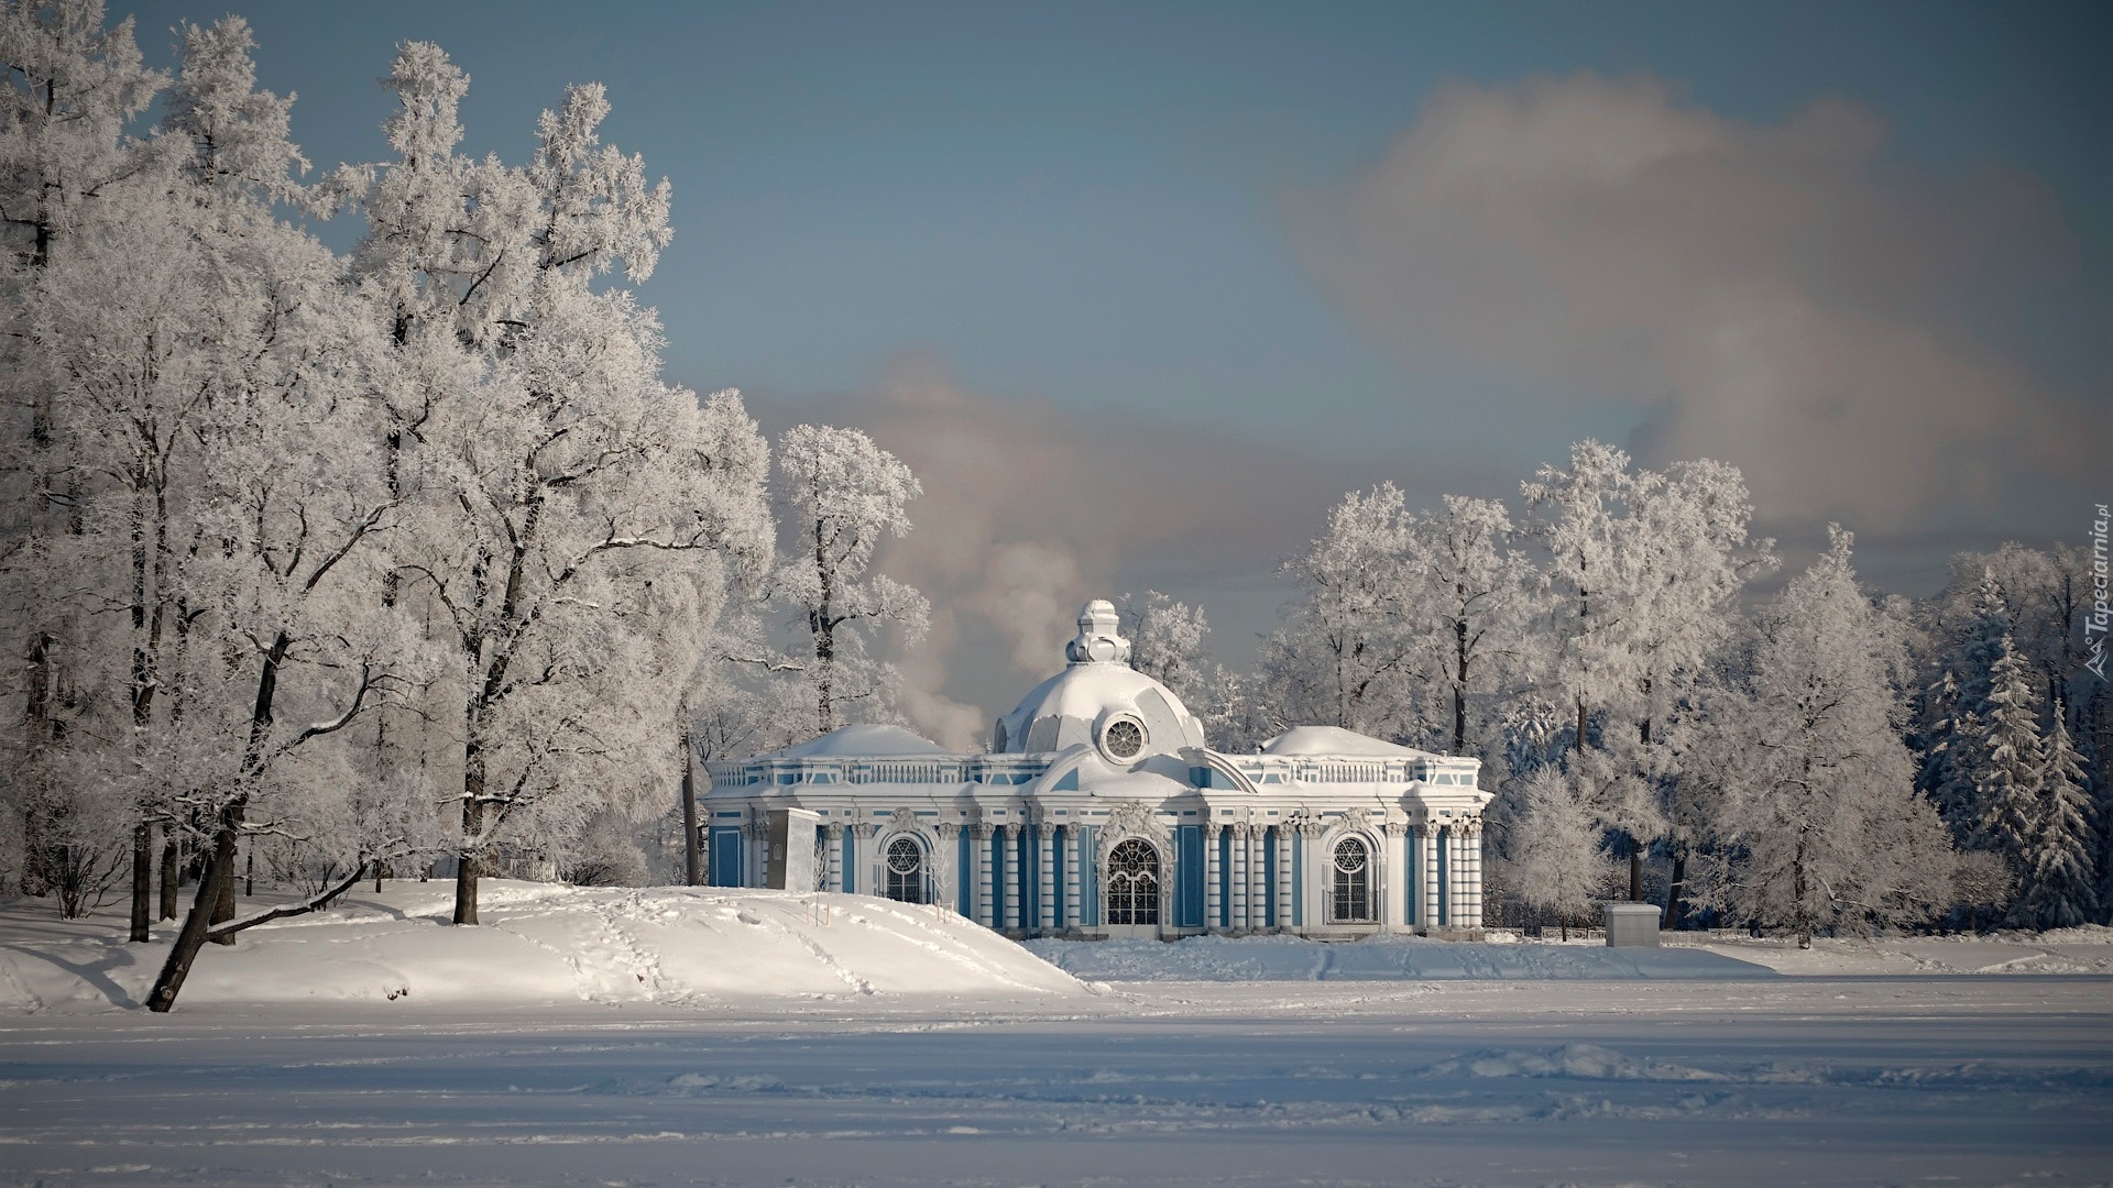
[[[847,725],[708,763],[710,881],[934,903],[1010,936],[1481,934],[1479,759],[1338,727],[1211,750],[1105,600],[1065,657],[983,755]]]

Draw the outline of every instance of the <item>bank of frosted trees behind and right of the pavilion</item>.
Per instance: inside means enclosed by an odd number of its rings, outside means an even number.
[[[1285,564],[1253,676],[1202,611],[1133,607],[1137,664],[1221,746],[1329,723],[1483,759],[1492,924],[1652,898],[1671,928],[2064,928],[2113,911],[2113,695],[2081,550],[1959,554],[1931,598],[1851,533],[1777,592],[1737,469],[1581,442],[1502,501],[1350,493]]]

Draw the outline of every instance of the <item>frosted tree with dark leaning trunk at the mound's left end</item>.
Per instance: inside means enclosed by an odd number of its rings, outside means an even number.
[[[220,706],[241,721],[241,746],[192,805],[209,822],[211,856],[148,996],[154,1010],[175,1002],[213,915],[232,905],[235,854],[254,810],[266,820],[298,818],[294,797],[304,784],[289,778],[292,765],[397,676],[397,638],[372,613],[378,537],[397,524],[397,501],[376,482],[380,469],[361,465],[374,408],[359,319],[319,243],[292,228],[251,230],[260,243],[270,237],[275,258],[254,273],[266,281],[245,294],[256,353],[218,387],[201,446],[211,486],[199,522],[211,547],[199,550],[197,590],[209,602],[192,630],[209,632],[254,693]],[[186,717],[197,721],[197,712]],[[237,734],[232,721],[220,729]],[[270,793],[287,793],[285,808]]]

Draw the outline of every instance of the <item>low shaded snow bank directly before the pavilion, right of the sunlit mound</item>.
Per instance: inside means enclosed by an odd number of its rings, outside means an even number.
[[[1302,936],[1188,936],[1183,941],[1027,941],[1027,949],[1088,981],[1542,981],[1754,979],[1775,970],[1703,949],[1606,945],[1475,945],[1422,936],[1306,941]]]

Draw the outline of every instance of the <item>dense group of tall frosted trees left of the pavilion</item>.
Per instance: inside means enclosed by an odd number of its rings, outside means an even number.
[[[602,87],[478,159],[469,78],[406,42],[389,159],[313,171],[245,21],[177,38],[158,72],[97,0],[0,8],[0,877],[129,886],[133,941],[182,915],[154,1008],[366,875],[440,858],[456,924],[484,871],[623,877],[740,672],[826,729],[925,615],[866,575],[902,463],[801,425],[773,469],[740,393],[661,378],[630,285],[670,188]],[[311,894],[237,920],[260,860]]]

